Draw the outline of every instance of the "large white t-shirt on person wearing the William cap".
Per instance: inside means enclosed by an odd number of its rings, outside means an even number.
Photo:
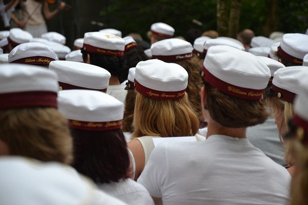
[[[138,182],[170,204],[286,204],[287,170],[247,139],[212,135],[167,142],[151,153]]]

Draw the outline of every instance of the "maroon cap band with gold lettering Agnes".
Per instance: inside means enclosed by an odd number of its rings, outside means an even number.
[[[155,98],[160,100],[177,100],[185,96],[186,89],[182,91],[157,91],[150,88],[146,88],[138,83],[135,79],[135,89],[140,92],[142,95],[145,95],[149,98]]]

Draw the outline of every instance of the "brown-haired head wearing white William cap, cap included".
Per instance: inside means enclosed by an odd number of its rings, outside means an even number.
[[[245,128],[265,121],[262,94],[271,74],[256,56],[229,46],[210,47],[201,75],[213,120],[228,128]]]

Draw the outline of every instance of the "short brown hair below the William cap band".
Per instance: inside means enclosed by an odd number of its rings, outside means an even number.
[[[224,94],[206,81],[207,109],[211,118],[227,128],[247,128],[262,124],[268,116],[263,99],[246,100]]]

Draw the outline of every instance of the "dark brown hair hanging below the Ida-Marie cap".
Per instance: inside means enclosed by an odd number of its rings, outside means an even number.
[[[73,167],[95,183],[128,178],[130,157],[121,129],[86,131],[71,129],[74,142]]]

